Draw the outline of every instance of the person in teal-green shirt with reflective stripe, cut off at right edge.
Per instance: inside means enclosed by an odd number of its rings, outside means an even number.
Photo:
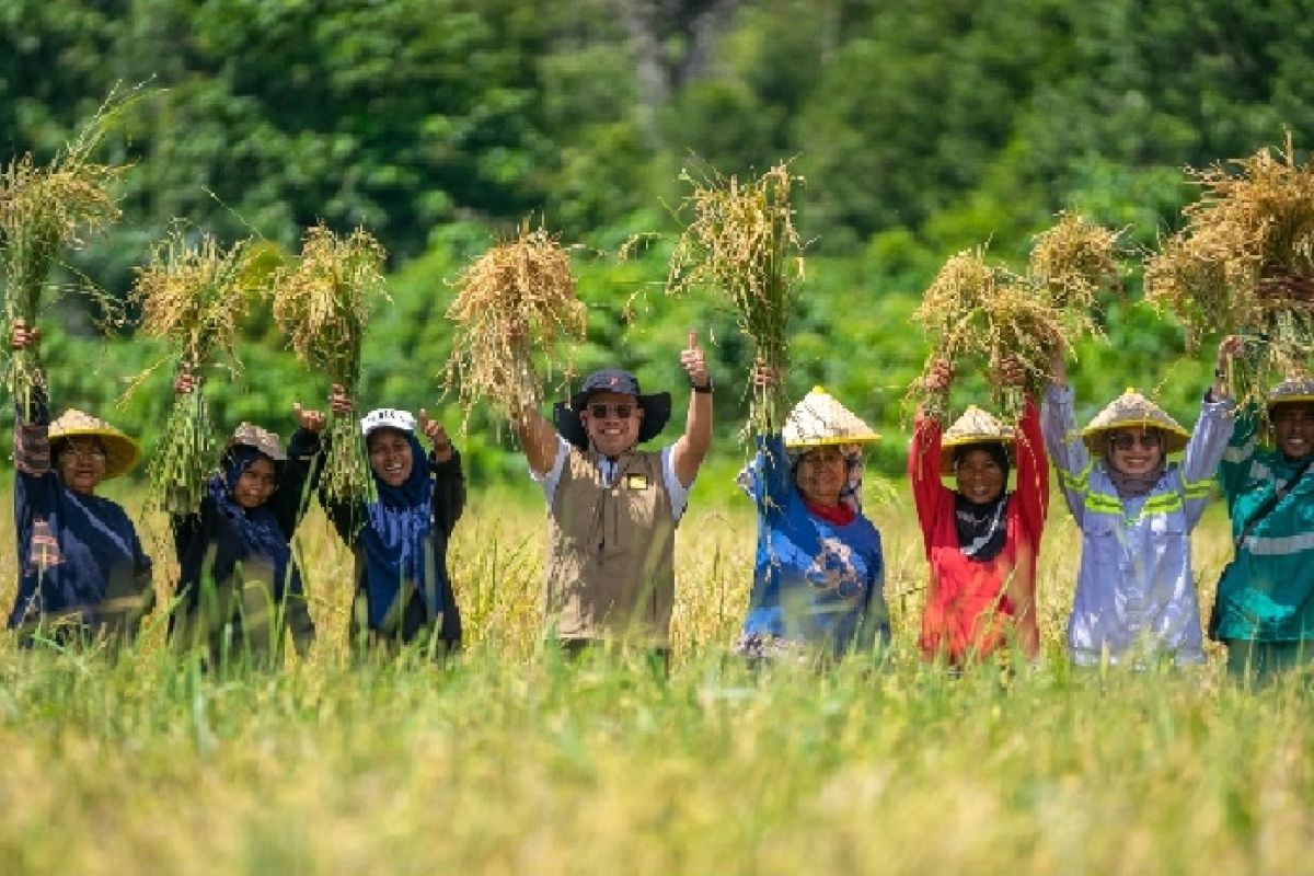
[[[1260,411],[1238,418],[1218,469],[1235,559],[1218,580],[1210,634],[1227,668],[1259,676],[1314,661],[1314,378],[1268,394],[1271,447]]]

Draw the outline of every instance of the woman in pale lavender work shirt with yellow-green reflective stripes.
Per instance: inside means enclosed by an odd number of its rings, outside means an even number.
[[[1235,355],[1225,340],[1218,369]],[[1081,529],[1081,563],[1068,621],[1077,665],[1202,663],[1190,531],[1213,491],[1233,433],[1221,381],[1205,394],[1194,432],[1129,389],[1080,433],[1062,355],[1041,414],[1068,510]],[[1168,454],[1185,450],[1181,462]]]

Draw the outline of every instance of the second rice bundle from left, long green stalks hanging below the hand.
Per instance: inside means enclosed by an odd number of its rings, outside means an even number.
[[[176,225],[151,252],[150,264],[138,268],[131,299],[142,309],[142,331],[177,344],[179,372],[201,377],[222,357],[239,368],[234,340],[247,303],[247,244],[225,250],[210,235]],[[196,508],[217,461],[205,393],[180,394],[147,468],[148,506]]]

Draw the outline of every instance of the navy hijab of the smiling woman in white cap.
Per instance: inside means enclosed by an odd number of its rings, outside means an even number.
[[[384,483],[371,468],[378,500],[365,504],[367,524],[360,532],[360,544],[365,549],[369,626],[374,629],[382,626],[402,580],[411,582],[424,595],[424,607],[430,617],[436,617],[443,609],[442,596],[435,586],[438,582],[428,580],[430,574],[426,567],[432,502],[428,456],[414,432],[394,431],[405,435],[410,444],[410,477],[394,487]]]

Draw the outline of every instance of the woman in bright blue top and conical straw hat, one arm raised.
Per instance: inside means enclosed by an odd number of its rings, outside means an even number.
[[[758,366],[756,382],[777,380]],[[735,651],[754,662],[871,651],[890,638],[880,533],[862,514],[862,447],[879,435],[817,386],[740,473],[757,559]]]

